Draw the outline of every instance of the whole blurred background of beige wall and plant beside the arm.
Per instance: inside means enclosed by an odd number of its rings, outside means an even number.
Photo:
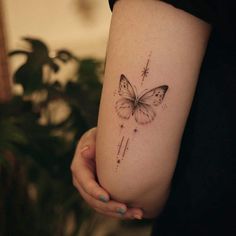
[[[97,122],[110,19],[106,0],[0,1],[0,236],[149,235],[149,221],[96,214],[71,181]]]

